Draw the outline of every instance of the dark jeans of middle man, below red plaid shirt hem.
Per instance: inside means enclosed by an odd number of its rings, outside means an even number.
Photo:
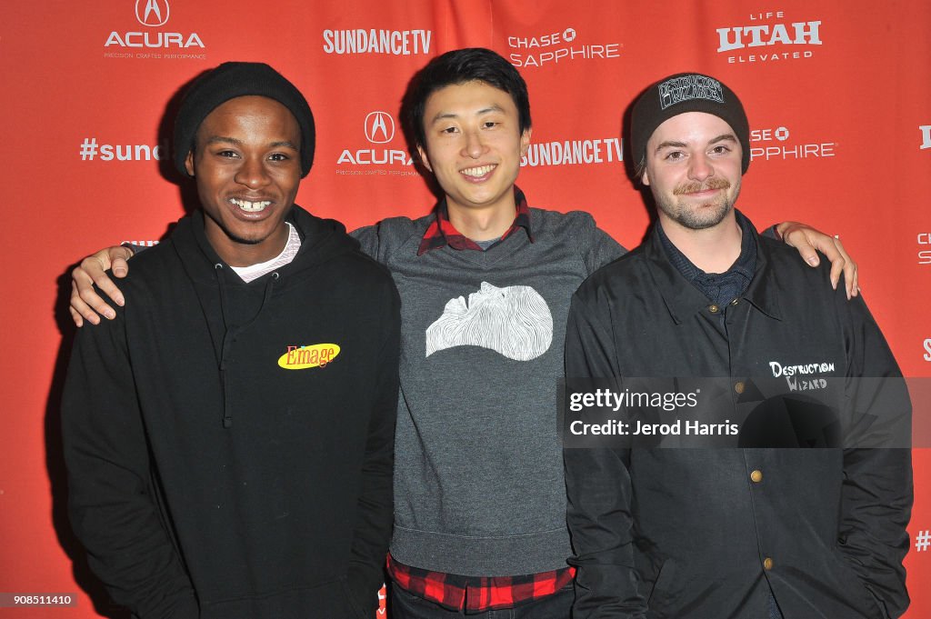
[[[391,619],[455,619],[468,617],[469,619],[569,619],[569,612],[573,606],[572,585],[561,589],[546,598],[536,599],[517,608],[506,608],[498,611],[466,614],[464,611],[448,611],[439,604],[408,593],[397,585],[389,585],[391,596],[388,599],[388,616]]]

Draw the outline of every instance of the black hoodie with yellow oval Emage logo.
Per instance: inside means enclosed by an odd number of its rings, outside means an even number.
[[[243,282],[203,215],[133,261],[79,331],[69,510],[143,619],[368,619],[392,522],[398,294],[342,224],[295,207],[293,262]]]

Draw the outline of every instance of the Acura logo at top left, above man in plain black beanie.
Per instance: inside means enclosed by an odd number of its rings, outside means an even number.
[[[136,20],[147,30],[111,31],[106,43],[103,44],[107,50],[103,53],[104,58],[195,58],[200,60],[207,58],[207,55],[203,53],[184,53],[192,47],[195,48],[192,51],[206,49],[199,34],[155,30],[169,22],[171,17],[169,0],[136,0],[135,16]],[[147,51],[134,51],[133,48],[143,48]]]

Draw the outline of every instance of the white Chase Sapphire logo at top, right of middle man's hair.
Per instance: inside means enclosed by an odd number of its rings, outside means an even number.
[[[621,43],[590,43],[571,26],[554,33],[514,34],[507,37],[508,56],[516,67],[544,67],[560,62],[620,58]]]

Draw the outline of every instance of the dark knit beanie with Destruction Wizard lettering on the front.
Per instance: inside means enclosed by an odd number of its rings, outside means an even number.
[[[634,163],[644,160],[646,142],[657,127],[686,112],[714,114],[734,129],[746,173],[750,165],[750,128],[744,106],[733,90],[702,74],[669,75],[647,88],[634,103],[630,114],[630,152]]]

